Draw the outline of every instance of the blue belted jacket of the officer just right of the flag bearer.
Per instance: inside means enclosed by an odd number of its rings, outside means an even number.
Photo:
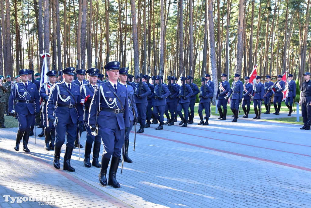
[[[83,106],[80,104],[81,94],[80,87],[75,83],[70,83],[70,92],[65,84],[65,81],[54,84],[51,89],[51,93],[48,101],[48,119],[57,117],[59,123],[63,124],[76,124],[77,114],[79,115],[79,121],[83,121]],[[76,108],[72,107],[60,107],[56,104],[61,105],[77,105]],[[54,110],[55,109],[55,110]]]

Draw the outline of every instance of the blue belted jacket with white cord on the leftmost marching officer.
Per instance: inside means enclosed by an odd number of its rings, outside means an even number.
[[[26,90],[29,92],[31,97],[26,92]],[[35,112],[39,112],[40,100],[39,100],[39,93],[38,93],[37,86],[34,83],[28,82],[26,90],[25,90],[25,85],[22,82],[16,83],[13,85],[12,93],[9,98],[9,112],[13,110],[13,105],[16,100],[28,100],[28,101],[33,100],[35,102],[34,103],[16,102],[14,106],[15,112],[24,114],[24,115],[27,115],[28,111],[31,114],[34,114]]]

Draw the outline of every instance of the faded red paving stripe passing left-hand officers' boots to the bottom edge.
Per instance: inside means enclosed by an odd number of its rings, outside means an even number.
[[[40,163],[43,163],[44,165],[48,166],[49,168],[52,168],[56,171],[56,169],[54,168],[53,165],[47,163],[46,161],[44,161],[43,159],[37,158],[36,156],[32,155],[32,154],[28,154],[30,157],[34,158],[35,160],[39,161]],[[63,175],[64,177],[68,178],[69,180],[77,183],[78,185],[80,185],[81,187],[85,188],[86,190],[92,192],[93,194],[101,197],[102,199],[110,202],[111,204],[117,206],[117,207],[127,207],[124,204],[116,201],[114,198],[105,195],[104,193],[101,193],[100,191],[90,187],[89,185],[81,182],[80,180],[74,178],[73,176],[69,175],[68,173],[66,173],[65,171],[57,171],[58,173],[60,173],[61,175]]]

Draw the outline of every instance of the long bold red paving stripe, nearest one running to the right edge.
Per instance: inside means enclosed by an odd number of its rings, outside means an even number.
[[[159,137],[159,136],[153,136],[153,135],[148,135],[148,134],[144,134],[144,133],[141,133],[141,135],[153,137],[153,138],[156,138],[156,139],[162,139],[162,140],[166,140],[166,141],[176,142],[176,143],[180,143],[180,144],[186,144],[186,145],[190,145],[190,146],[194,146],[194,147],[199,147],[199,148],[203,148],[203,149],[209,149],[209,150],[216,151],[216,152],[232,154],[232,155],[236,155],[236,156],[240,156],[240,157],[244,157],[244,158],[255,159],[255,160],[264,161],[264,162],[267,162],[267,163],[283,165],[283,166],[286,166],[286,167],[296,168],[296,169],[300,169],[300,170],[305,170],[305,171],[311,172],[311,168],[306,168],[306,167],[302,167],[302,166],[298,166],[298,165],[293,165],[293,164],[289,164],[289,163],[282,163],[282,162],[275,161],[275,160],[258,158],[258,157],[254,157],[254,156],[250,156],[250,155],[246,155],[246,154],[239,154],[239,153],[235,153],[235,152],[225,151],[225,150],[222,150],[222,149],[215,149],[215,148],[211,148],[211,147],[206,147],[206,146],[197,145],[197,144],[191,144],[191,143],[188,143],[188,142],[182,142],[182,141],[178,141],[178,140],[174,140],[174,139],[167,139],[167,138],[163,138],[163,137]]]

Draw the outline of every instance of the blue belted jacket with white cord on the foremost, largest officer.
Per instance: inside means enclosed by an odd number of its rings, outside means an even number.
[[[89,125],[97,124],[109,129],[115,129],[118,125],[121,130],[130,126],[127,87],[117,83],[117,92],[115,92],[110,82],[100,83],[96,86],[94,95],[89,111]],[[118,95],[121,103],[116,95]],[[124,109],[124,113],[99,111],[99,107]]]

